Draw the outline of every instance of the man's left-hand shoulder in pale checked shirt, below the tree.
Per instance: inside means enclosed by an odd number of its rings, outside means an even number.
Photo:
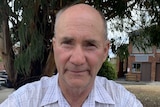
[[[41,103],[44,103],[47,98],[53,98],[54,94],[52,95],[51,93],[54,93],[56,90],[56,77],[57,76],[42,77],[39,81],[28,83],[20,87],[9,95],[3,105],[40,107]]]

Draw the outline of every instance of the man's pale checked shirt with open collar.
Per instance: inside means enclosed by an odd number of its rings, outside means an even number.
[[[13,92],[0,107],[70,107],[58,85],[58,74],[42,77]],[[82,107],[143,107],[123,86],[104,77],[96,77]]]

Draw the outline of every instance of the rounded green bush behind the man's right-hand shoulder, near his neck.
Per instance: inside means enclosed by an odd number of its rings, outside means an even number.
[[[113,64],[111,64],[107,60],[103,63],[97,75],[106,77],[109,80],[115,80],[117,78],[116,69],[114,68]]]

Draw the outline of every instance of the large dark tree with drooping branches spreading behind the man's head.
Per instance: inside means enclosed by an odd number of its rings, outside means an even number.
[[[124,18],[130,20],[130,26],[135,25],[132,10],[138,9],[137,11],[143,14],[147,12],[151,21],[145,27],[154,24],[159,31],[159,0],[1,0],[0,23],[4,25],[1,26],[1,31],[6,43],[3,55],[9,79],[12,82],[16,83],[17,75],[19,79],[27,77],[39,79],[42,75],[53,74],[56,67],[51,39],[54,35],[55,14],[62,7],[75,1],[87,3],[101,10],[108,21],[119,19],[118,24],[115,24],[118,26],[114,28],[120,31],[129,29],[124,26],[126,21]],[[11,30],[9,30],[8,21],[12,23]],[[145,20],[141,22],[146,23]],[[140,24],[144,25],[143,23]],[[159,44],[158,40],[150,39],[151,43]],[[17,42],[20,42],[20,50],[16,55],[12,46]]]

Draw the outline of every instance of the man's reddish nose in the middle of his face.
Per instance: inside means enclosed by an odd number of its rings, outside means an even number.
[[[70,62],[74,65],[83,65],[86,61],[84,50],[81,46],[77,46],[73,49],[70,57]]]

